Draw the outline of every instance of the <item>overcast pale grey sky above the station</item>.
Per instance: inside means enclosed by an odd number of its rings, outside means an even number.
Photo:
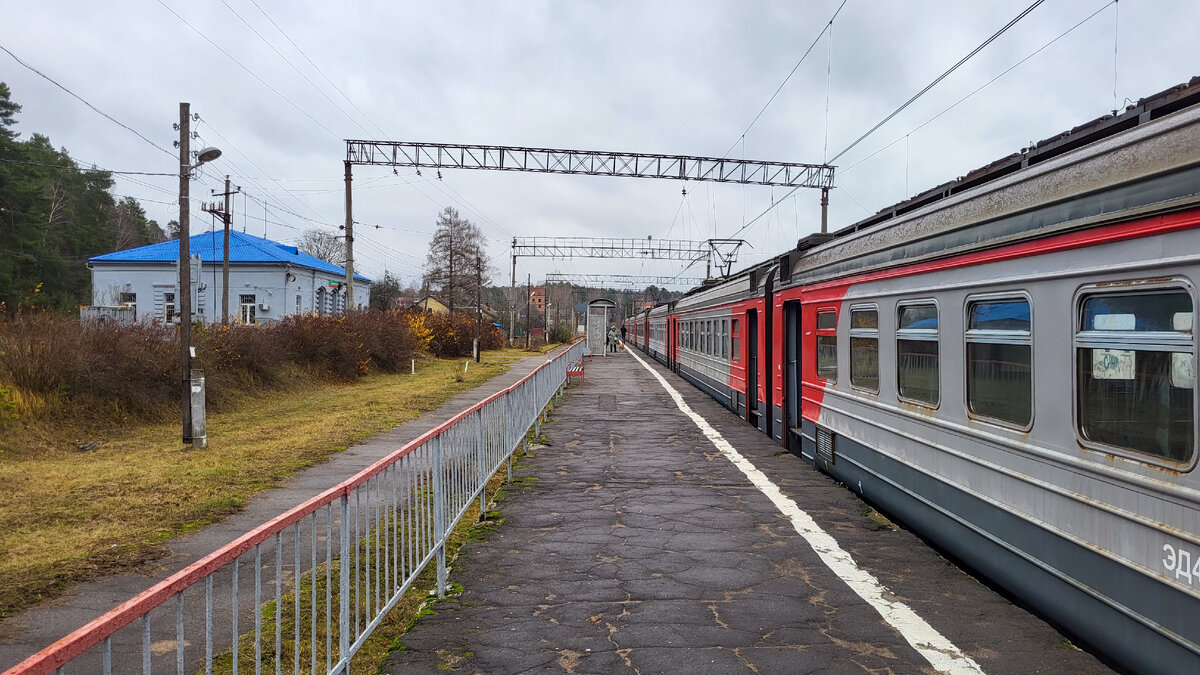
[[[229,173],[248,197],[235,203],[234,227],[294,241],[343,222],[347,138],[820,163],[1028,4],[847,0],[752,126],[841,0],[0,0],[0,44],[168,150],[179,102],[191,102],[202,118],[193,143],[224,151],[192,185],[193,232],[211,226],[197,198]],[[1200,74],[1198,26],[1190,0],[1048,0],[833,162],[830,228]],[[24,108],[23,138],[47,135],[109,169],[176,171],[176,160],[4,53],[0,80]],[[422,174],[355,167],[354,219],[367,223],[355,258],[368,276],[386,269],[416,281],[446,205],[481,227],[492,279],[508,283],[512,237],[725,238],[785,193]],[[174,178],[119,178],[114,192],[142,199],[162,225],[178,217]],[[818,203],[820,192],[800,190],[745,228],[737,268],[817,231]],[[679,263],[518,259],[522,280],[551,271],[703,275]]]

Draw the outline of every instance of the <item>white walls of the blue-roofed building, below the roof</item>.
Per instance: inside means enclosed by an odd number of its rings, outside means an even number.
[[[94,305],[120,305],[122,293],[133,293],[137,321],[166,321],[166,299],[170,293],[178,311],[179,271],[174,263],[92,263],[91,280]],[[221,265],[193,263],[192,280],[192,315],[204,323],[220,322]],[[254,298],[256,323],[280,321],[294,313],[342,313],[346,293],[337,288],[338,282],[344,282],[344,277],[307,268],[230,264],[230,319],[239,321],[242,295]],[[356,280],[355,307],[365,309],[370,301],[371,285]]]

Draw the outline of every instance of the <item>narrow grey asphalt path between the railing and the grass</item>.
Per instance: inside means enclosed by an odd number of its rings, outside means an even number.
[[[79,584],[61,597],[14,616],[0,619],[0,671],[20,663],[264,521],[350,478],[408,441],[511,386],[545,362],[545,356],[521,359],[514,363],[508,372],[454,396],[440,407],[331,455],[329,461],[301,472],[281,488],[254,495],[246,501],[241,512],[196,532],[170,539],[166,554],[157,562],[145,566],[142,574],[122,574]],[[223,581],[223,578],[218,581]],[[218,589],[217,592],[227,591]],[[224,623],[228,622],[228,617],[217,617],[217,621],[220,632],[227,633]],[[74,673],[78,668],[68,670]],[[174,663],[170,671],[174,671]]]

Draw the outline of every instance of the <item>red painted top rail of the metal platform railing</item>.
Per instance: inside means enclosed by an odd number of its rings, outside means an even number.
[[[572,340],[568,344],[568,347],[578,340],[581,339]],[[296,504],[276,518],[268,520],[250,532],[246,532],[245,534],[229,542],[224,546],[212,551],[192,565],[188,565],[184,569],[180,569],[162,581],[158,581],[145,591],[142,591],[133,598],[108,610],[103,615],[88,622],[53,645],[12,667],[7,673],[5,673],[5,675],[47,675],[49,673],[54,673],[55,669],[61,668],[71,659],[98,645],[104,638],[108,638],[125,626],[128,626],[139,616],[148,614],[154,608],[174,597],[176,593],[233,562],[246,551],[252,550],[256,545],[266,542],[275,533],[282,532],[290,525],[294,525],[295,522],[299,522],[304,518],[317,512],[317,509],[331,504],[343,496],[349,497],[350,492],[355,488],[362,485],[373,476],[395,464],[396,460],[427,443],[487,404],[511,393],[524,382],[532,380],[544,368],[566,356],[569,351],[570,350],[563,350],[558,354],[547,358],[546,363],[535,368],[529,375],[526,375],[514,384],[492,394],[491,396],[451,417],[446,422],[443,422],[425,434],[421,434],[416,438],[413,438],[408,443],[404,443],[403,447],[360,471],[350,479],[344,480],[300,504]]]

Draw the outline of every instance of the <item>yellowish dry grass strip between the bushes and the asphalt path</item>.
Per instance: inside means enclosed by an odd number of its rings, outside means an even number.
[[[0,454],[0,616],[70,585],[136,571],[162,542],[238,510],[347,446],[391,429],[508,370],[516,350],[485,363],[425,360],[418,375],[248,398],[209,417],[209,448],[179,442],[179,425],[113,429],[11,425]],[[14,437],[14,435],[19,435]],[[82,452],[77,444],[103,441]]]

